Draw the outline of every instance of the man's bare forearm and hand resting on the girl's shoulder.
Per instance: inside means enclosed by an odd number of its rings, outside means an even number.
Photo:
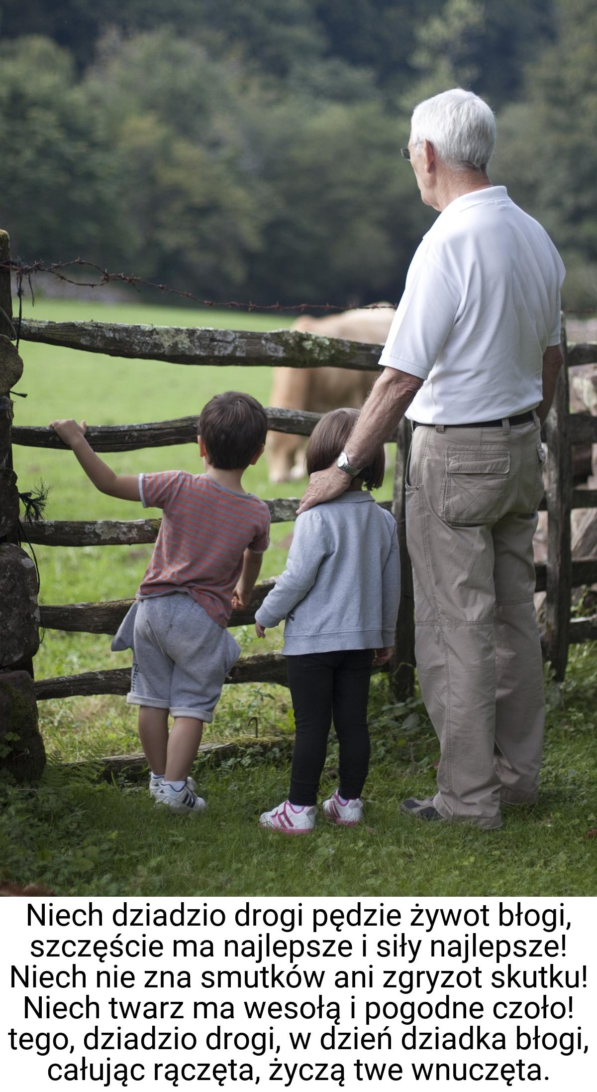
[[[422,385],[422,379],[410,376],[397,368],[384,368],[375,381],[371,394],[365,403],[355,430],[346,444],[346,454],[351,466],[367,466],[380,444],[390,439],[396,425],[404,417],[415,394]],[[311,474],[309,487],[305,494],[298,513],[307,511],[313,505],[321,505],[350,485],[350,478],[334,464],[326,471]]]

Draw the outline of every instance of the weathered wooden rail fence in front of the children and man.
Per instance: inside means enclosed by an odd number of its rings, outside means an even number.
[[[254,333],[231,330],[187,329],[175,327],[130,327],[103,322],[23,321],[24,341],[61,345],[121,358],[142,358],[178,365],[255,365],[286,367],[338,367],[378,370],[380,348],[341,340],[319,337],[295,331]],[[597,418],[590,414],[569,411],[570,366],[597,360],[597,344],[566,345],[563,325],[565,368],[562,369],[553,407],[544,430],[548,444],[548,487],[542,508],[548,511],[547,565],[536,566],[537,590],[547,592],[546,628],[542,633],[545,656],[551,661],[556,677],[563,678],[569,644],[597,639],[597,616],[571,619],[572,589],[597,581],[597,560],[581,558],[572,561],[570,517],[572,508],[597,507],[597,490],[574,489],[572,482],[572,444],[597,443]],[[124,367],[126,365],[123,365]],[[374,375],[372,375],[372,380]],[[319,415],[298,411],[267,410],[270,428],[283,432],[309,436]],[[154,424],[91,427],[87,439],[100,452],[130,451],[147,447],[194,442],[196,418]],[[396,633],[396,653],[391,664],[396,697],[405,697],[414,685],[414,602],[411,570],[406,551],[404,518],[404,479],[410,426],[403,422],[393,438],[396,443],[396,466],[392,500],[385,507],[393,511],[397,525],[403,566],[403,596]],[[19,426],[12,428],[12,443],[37,448],[63,448],[50,428]],[[296,518],[297,499],[273,499],[267,505],[272,521]],[[130,546],[155,541],[159,520],[46,521],[27,523],[24,530],[33,545],[45,546]],[[230,626],[254,620],[254,612],[263,601],[271,581],[259,584],[250,606],[235,612]],[[41,625],[48,629],[76,632],[115,633],[131,601],[115,603],[75,603],[41,606]],[[82,675],[40,679],[35,684],[37,699],[76,695],[120,693],[129,689],[128,669],[87,672]],[[279,653],[241,657],[232,668],[229,682],[285,682],[284,660]]]

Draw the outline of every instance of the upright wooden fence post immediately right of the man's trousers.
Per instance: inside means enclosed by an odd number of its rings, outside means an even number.
[[[562,349],[553,404],[546,420],[547,462],[547,600],[545,646],[558,681],[565,675],[570,640],[572,596],[572,444],[570,439],[570,380],[565,317],[562,314]]]

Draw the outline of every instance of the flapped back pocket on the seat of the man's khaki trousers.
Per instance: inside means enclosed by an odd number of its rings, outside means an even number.
[[[495,523],[509,510],[509,474],[502,449],[446,451],[439,514],[455,526]]]

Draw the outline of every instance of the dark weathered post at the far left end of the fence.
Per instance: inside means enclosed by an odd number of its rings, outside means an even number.
[[[0,262],[10,238],[0,232]],[[23,361],[11,339],[11,276],[0,269],[0,768],[19,782],[37,780],[46,762],[37,727],[32,656],[39,644],[35,566],[19,545],[19,489],[12,468],[12,401]]]

